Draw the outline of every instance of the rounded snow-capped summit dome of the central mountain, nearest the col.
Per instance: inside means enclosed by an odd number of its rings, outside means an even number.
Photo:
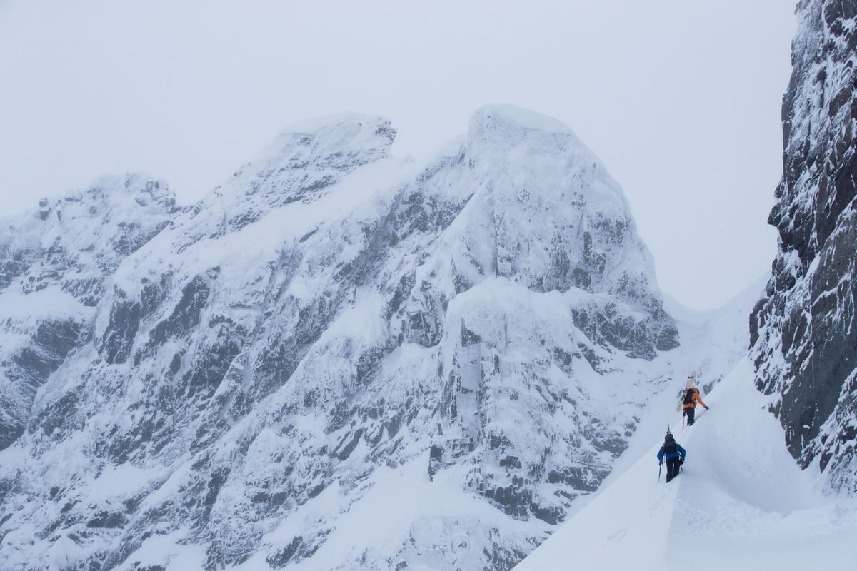
[[[473,193],[461,215],[468,222],[451,228],[460,282],[490,269],[537,291],[624,291],[632,306],[658,311],[643,293],[656,290],[655,277],[627,201],[569,128],[488,105],[471,117],[459,161],[463,180],[454,187]],[[492,229],[493,243],[473,240],[481,228]]]

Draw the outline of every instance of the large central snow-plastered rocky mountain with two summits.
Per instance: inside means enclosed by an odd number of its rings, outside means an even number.
[[[517,108],[394,134],[292,126],[118,265],[0,456],[7,566],[508,569],[596,490],[678,344],[620,188]]]

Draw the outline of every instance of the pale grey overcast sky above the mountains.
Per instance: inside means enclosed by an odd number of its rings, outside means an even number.
[[[662,289],[719,306],[770,271],[792,0],[0,0],[0,214],[107,172],[198,199],[304,118],[387,116],[398,155],[482,104],[574,129]]]

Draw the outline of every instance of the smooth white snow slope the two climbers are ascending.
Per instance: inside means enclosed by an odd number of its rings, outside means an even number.
[[[746,316],[761,287],[709,315],[665,304],[688,342],[686,358],[710,354],[715,369],[734,362],[725,345],[710,342],[746,337],[745,320],[735,317]],[[684,380],[673,382],[679,393]],[[710,410],[698,408],[693,426],[683,426],[671,394],[656,399],[600,491],[515,571],[854,568],[857,503],[824,495],[822,479],[794,462],[746,355],[704,394]],[[668,423],[687,451],[669,485],[656,459]]]

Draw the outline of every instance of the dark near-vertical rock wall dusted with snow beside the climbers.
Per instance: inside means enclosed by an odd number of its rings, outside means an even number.
[[[780,253],[751,317],[759,390],[788,449],[857,492],[857,2],[804,1],[783,100]]]

